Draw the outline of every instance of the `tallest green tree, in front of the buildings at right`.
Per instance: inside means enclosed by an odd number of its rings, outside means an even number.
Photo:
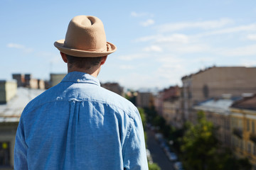
[[[187,169],[214,169],[218,140],[213,123],[208,122],[203,112],[198,112],[198,123],[188,123],[188,130],[182,138],[181,151]],[[209,166],[211,165],[211,166]],[[215,168],[216,169],[216,168]]]

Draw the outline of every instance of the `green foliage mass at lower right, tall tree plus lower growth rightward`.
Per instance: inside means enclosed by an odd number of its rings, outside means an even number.
[[[206,120],[203,112],[198,112],[198,123],[186,124],[181,151],[183,165],[191,170],[250,170],[247,159],[236,159],[230,149],[220,147],[215,138],[213,123]]]

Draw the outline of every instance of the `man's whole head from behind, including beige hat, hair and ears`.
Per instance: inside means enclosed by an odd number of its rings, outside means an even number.
[[[75,16],[68,25],[65,40],[58,40],[54,45],[68,63],[69,72],[70,68],[95,69],[117,50],[106,41],[103,23],[95,16]]]

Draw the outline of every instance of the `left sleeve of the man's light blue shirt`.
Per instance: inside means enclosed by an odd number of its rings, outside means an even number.
[[[14,146],[14,169],[28,169],[27,152],[28,146],[25,142],[25,132],[23,126],[23,120],[20,119],[18,123],[18,129],[16,131],[16,139]]]

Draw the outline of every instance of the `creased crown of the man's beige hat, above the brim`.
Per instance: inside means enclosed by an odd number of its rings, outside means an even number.
[[[75,16],[68,25],[63,47],[106,52],[107,40],[102,21],[95,16]]]

